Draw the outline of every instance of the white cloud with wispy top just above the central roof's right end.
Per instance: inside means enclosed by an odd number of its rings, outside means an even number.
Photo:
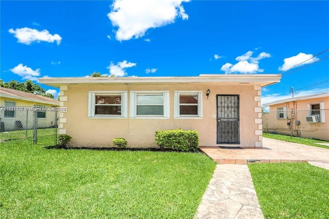
[[[236,64],[226,63],[222,66],[221,70],[225,71],[225,74],[232,73],[242,73],[242,74],[254,74],[257,72],[263,72],[264,69],[259,68],[259,60],[264,58],[271,57],[270,53],[261,52],[257,57],[252,57],[253,51],[248,51],[242,56],[238,56],[235,58],[237,62]]]

